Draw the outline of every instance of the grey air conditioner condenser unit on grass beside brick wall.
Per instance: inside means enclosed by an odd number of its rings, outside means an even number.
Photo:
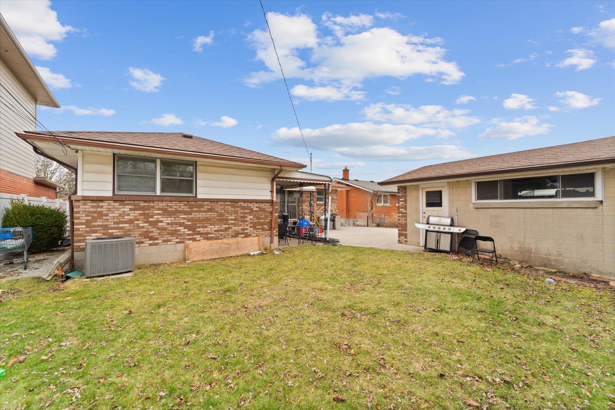
[[[85,240],[86,277],[129,272],[135,269],[135,238],[108,237]]]

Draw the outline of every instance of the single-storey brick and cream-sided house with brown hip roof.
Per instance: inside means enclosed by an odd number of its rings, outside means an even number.
[[[77,175],[77,268],[96,237],[136,237],[138,264],[183,261],[193,241],[261,236],[274,245],[280,190],[331,184],[303,164],[186,133],[52,133],[17,136]]]

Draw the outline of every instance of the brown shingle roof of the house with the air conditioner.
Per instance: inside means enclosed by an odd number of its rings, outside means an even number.
[[[28,134],[49,136],[43,131],[26,131]],[[286,164],[292,167],[304,168],[306,165],[286,159],[273,157],[261,152],[250,151],[249,149],[239,148],[229,144],[218,143],[217,141],[207,140],[199,136],[185,138],[181,132],[109,132],[109,131],[52,131],[55,136],[62,140],[62,137],[71,140],[81,140],[87,142],[129,144],[143,148],[170,149],[173,151],[194,152],[197,154],[212,154],[237,159],[257,160],[261,162],[273,162],[275,164]],[[191,135],[190,135],[191,136]]]

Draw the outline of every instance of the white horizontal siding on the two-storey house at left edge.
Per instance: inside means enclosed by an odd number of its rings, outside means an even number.
[[[2,60],[0,60],[0,84],[2,84],[0,87],[0,168],[26,178],[34,178],[36,176],[36,155],[30,144],[22,141],[15,135],[15,132],[36,130],[36,121],[32,117],[36,117],[36,100]],[[19,102],[15,101],[7,90]],[[15,113],[14,110],[20,114]]]

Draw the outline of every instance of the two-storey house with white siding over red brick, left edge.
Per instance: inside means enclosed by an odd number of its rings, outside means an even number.
[[[36,106],[60,108],[0,15],[0,194],[55,199],[62,185],[36,176],[36,154],[15,132],[36,129]]]

